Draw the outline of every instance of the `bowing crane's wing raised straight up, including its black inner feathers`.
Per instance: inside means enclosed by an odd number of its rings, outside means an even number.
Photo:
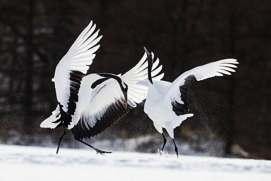
[[[95,27],[96,25],[92,26],[91,21],[56,67],[52,81],[55,82],[56,97],[60,107],[59,119],[54,122],[59,123],[57,127],[68,127],[72,121],[71,116],[74,115],[76,109],[77,94],[82,78],[95,57],[93,53],[99,48],[99,45],[95,45],[102,37],[96,38],[99,30],[92,35]]]

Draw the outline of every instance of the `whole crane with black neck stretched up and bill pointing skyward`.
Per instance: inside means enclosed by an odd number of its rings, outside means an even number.
[[[149,77],[148,80],[137,82],[137,85],[144,85],[149,88],[144,112],[153,121],[154,127],[164,138],[162,151],[167,141],[162,130],[162,128],[165,128],[173,140],[178,157],[178,148],[174,141],[173,129],[179,126],[186,118],[193,116],[193,114],[185,114],[184,112],[184,110],[188,110],[189,106],[186,102],[189,86],[194,80],[200,81],[214,76],[222,76],[223,74],[231,75],[229,71],[235,72],[235,70],[230,67],[236,68],[237,66],[233,64],[238,62],[235,59],[224,59],[198,66],[183,73],[171,83],[151,78],[153,57],[145,47],[144,49],[147,53]]]

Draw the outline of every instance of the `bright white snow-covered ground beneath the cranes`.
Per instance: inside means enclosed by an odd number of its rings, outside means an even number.
[[[271,180],[271,161],[0,145],[0,180]]]

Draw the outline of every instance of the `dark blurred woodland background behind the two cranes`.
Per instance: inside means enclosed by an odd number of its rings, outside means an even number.
[[[146,46],[162,80],[237,59],[233,75],[194,82],[175,129],[182,154],[271,159],[271,3],[260,0],[0,1],[0,143],[56,147],[63,130],[40,128],[57,100],[54,71],[91,20],[103,35],[89,73],[125,73]],[[156,152],[162,136],[143,103],[101,135],[98,148]],[[168,135],[166,135],[168,136]],[[69,133],[62,147],[80,148]],[[174,153],[170,139],[167,151]]]

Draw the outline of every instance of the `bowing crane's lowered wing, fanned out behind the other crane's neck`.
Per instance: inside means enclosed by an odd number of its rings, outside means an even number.
[[[114,79],[104,81],[92,90],[91,101],[72,130],[76,136],[82,139],[101,133],[126,115],[130,109],[136,107],[136,103],[141,103],[146,99],[148,88],[136,84],[138,81],[148,78],[146,58],[147,55],[145,53],[134,68],[121,76],[128,85],[127,108],[125,107],[124,95],[118,82]],[[158,64],[159,59],[154,62],[152,76],[157,75],[161,71],[162,65],[156,68]],[[160,74],[153,79],[160,80],[163,78],[163,75]]]

